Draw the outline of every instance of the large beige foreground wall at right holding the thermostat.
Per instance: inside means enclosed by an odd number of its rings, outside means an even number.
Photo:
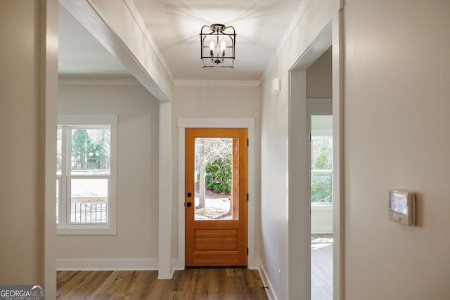
[[[449,299],[450,1],[346,0],[346,299]],[[387,193],[418,193],[418,226]]]

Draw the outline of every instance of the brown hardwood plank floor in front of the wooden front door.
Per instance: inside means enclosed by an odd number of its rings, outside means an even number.
[[[157,271],[58,271],[58,299],[267,299],[257,270],[176,270],[171,280]]]

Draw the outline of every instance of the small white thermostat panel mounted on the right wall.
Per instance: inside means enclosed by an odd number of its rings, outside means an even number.
[[[409,190],[390,190],[389,219],[416,226],[416,194]]]

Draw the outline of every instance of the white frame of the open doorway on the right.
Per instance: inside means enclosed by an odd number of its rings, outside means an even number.
[[[290,70],[289,82],[289,269],[288,294],[311,299],[310,182],[307,164],[306,70],[333,46],[333,299],[344,299],[344,152],[342,10]]]

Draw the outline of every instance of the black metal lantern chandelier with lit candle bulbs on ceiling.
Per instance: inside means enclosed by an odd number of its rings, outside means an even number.
[[[234,67],[236,32],[233,26],[205,25],[200,30],[202,67]]]

